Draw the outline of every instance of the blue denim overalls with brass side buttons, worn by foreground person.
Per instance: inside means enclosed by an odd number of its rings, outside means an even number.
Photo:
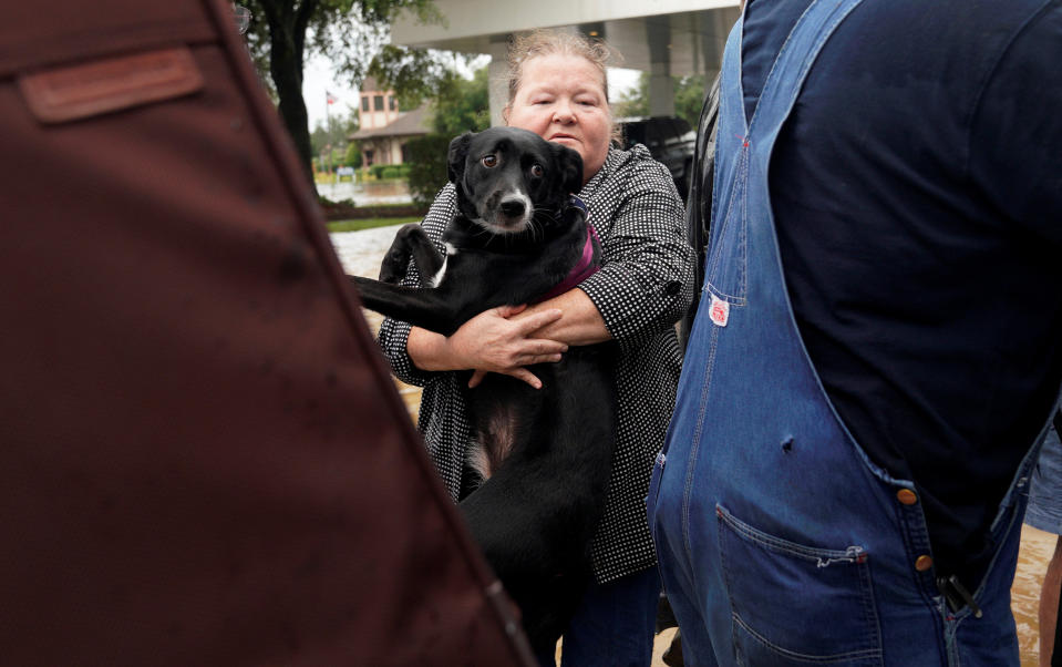
[[[747,125],[741,21],[726,43],[705,281],[648,497],[687,664],[1018,665],[1010,584],[1038,448],[992,524],[997,552],[967,586],[973,604],[949,605],[914,484],[876,466],[838,419],[784,284],[771,152],[815,57],[859,3],[812,2]]]

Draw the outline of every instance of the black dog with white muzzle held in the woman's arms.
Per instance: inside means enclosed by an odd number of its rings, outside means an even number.
[[[455,138],[448,163],[460,213],[446,256],[406,225],[381,269],[396,281],[412,258],[434,287],[352,278],[368,308],[448,336],[488,308],[570,287],[585,256],[596,267],[600,245],[568,196],[582,184],[578,153],[494,127]],[[536,651],[553,650],[590,576],[615,443],[614,361],[615,343],[571,347],[530,368],[539,390],[492,373],[468,393],[477,458],[492,470],[461,509]]]

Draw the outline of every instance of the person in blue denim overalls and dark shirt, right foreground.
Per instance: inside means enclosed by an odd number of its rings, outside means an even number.
[[[1018,665],[1062,381],[1060,62],[1058,0],[744,8],[647,499],[687,665]]]

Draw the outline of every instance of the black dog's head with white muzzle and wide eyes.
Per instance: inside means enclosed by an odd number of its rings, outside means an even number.
[[[528,229],[582,187],[582,157],[517,127],[465,133],[450,143],[450,179],[462,215],[492,234]]]

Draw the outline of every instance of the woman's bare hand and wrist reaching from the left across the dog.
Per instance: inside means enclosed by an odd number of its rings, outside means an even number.
[[[414,327],[406,343],[410,357],[424,370],[473,369],[476,372],[470,387],[478,384],[486,373],[496,372],[540,389],[542,381],[525,367],[560,361],[568,346],[548,338],[529,338],[536,330],[560,319],[559,309],[509,319],[525,308],[491,308],[466,321],[448,338]]]

